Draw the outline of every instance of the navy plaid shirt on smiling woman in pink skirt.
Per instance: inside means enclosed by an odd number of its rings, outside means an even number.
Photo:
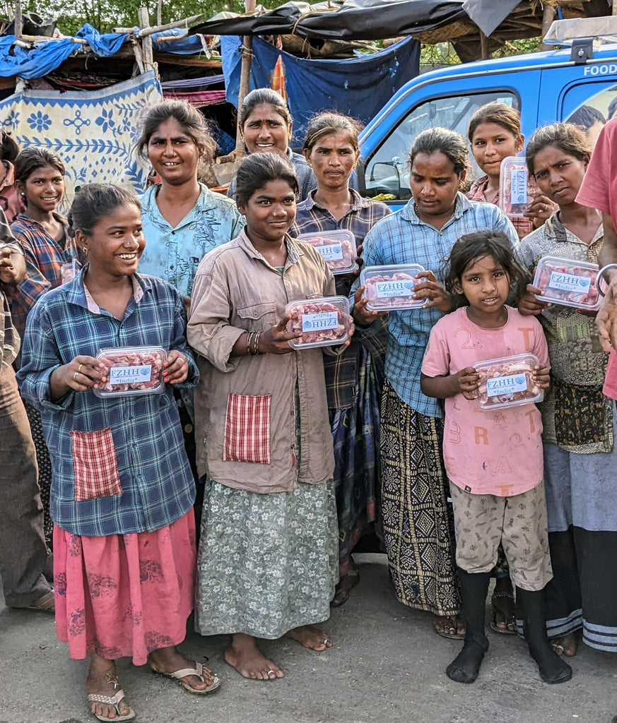
[[[195,500],[195,482],[184,452],[173,390],[162,394],[99,398],[93,390],[51,400],[50,377],[79,354],[101,348],[161,346],[189,361],[189,385],[199,374],[185,338],[184,301],[158,278],[133,277],[134,294],[124,318],[95,304],[83,272],[41,297],[27,317],[22,397],[41,411],[51,450],[51,517],[73,534],[103,536],[153,531],[186,514]],[[122,494],[79,500],[72,432],[111,429]]]

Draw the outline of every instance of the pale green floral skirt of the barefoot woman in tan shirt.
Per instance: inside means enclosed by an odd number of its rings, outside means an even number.
[[[202,635],[273,640],[321,623],[338,568],[333,482],[258,495],[206,481],[195,607]]]

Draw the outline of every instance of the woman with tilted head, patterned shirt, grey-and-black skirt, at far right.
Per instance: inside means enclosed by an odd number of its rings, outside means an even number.
[[[553,562],[547,630],[566,656],[576,654],[581,628],[583,641],[599,650],[614,652],[617,640],[617,513],[607,504],[615,489],[616,409],[603,394],[608,354],[595,326],[604,229],[599,210],[576,202],[590,156],[589,138],[573,124],[532,135],[529,173],[559,211],[518,250],[530,280],[541,265],[519,311],[538,317],[550,354],[551,389],[539,405]]]

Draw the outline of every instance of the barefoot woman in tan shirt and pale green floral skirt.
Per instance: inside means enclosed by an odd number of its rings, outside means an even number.
[[[242,161],[247,226],[201,262],[188,327],[203,375],[197,461],[207,473],[197,630],[231,634],[226,662],[253,680],[284,676],[258,638],[332,645],[313,627],[330,615],[338,572],[322,348],[344,349],[353,328],[323,257],[287,233],[297,190],[281,155]]]

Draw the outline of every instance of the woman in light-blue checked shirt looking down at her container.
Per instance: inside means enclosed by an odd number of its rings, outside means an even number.
[[[503,231],[513,245],[518,236],[495,205],[471,202],[459,192],[468,163],[460,134],[445,128],[423,131],[409,161],[412,198],[365,238],[368,283],[354,296],[354,319],[362,334],[371,334],[375,322],[388,315],[380,452],[384,536],[396,596],[409,607],[432,612],[439,635],[463,638],[441,453],[443,412],[420,391],[420,368],[431,328],[450,311],[441,269],[456,239],[478,229]],[[388,269],[399,265],[416,266]],[[370,280],[373,266],[386,268]],[[397,297],[399,286],[404,289]]]

